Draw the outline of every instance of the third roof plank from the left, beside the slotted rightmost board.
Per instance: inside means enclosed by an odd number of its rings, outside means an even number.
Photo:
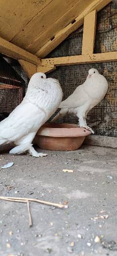
[[[47,41],[54,38],[54,36],[64,27],[66,27],[69,23],[71,23],[78,15],[84,11],[84,9],[91,3],[93,0],[77,0],[77,3],[71,7],[68,11],[64,13],[56,22],[54,22],[47,30],[43,31],[41,35],[28,47],[28,50],[31,53],[36,53]]]

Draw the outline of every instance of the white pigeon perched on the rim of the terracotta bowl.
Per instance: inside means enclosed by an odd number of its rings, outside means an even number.
[[[79,85],[68,98],[63,100],[59,108],[61,110],[51,122],[66,114],[74,114],[79,118],[79,126],[94,131],[87,126],[86,116],[88,112],[104,98],[108,90],[107,80],[99,74],[98,70],[91,68],[85,82]]]

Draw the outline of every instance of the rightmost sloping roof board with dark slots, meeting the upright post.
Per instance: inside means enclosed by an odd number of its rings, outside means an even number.
[[[55,49],[64,39],[66,39],[72,32],[78,29],[83,24],[84,17],[96,9],[98,12],[104,6],[106,6],[111,0],[94,0],[88,7],[75,19],[76,21],[72,24],[70,23],[64,29],[59,31],[53,40],[49,40],[36,55],[40,58],[46,57],[53,49]]]

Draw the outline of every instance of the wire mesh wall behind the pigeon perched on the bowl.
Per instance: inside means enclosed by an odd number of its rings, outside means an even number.
[[[47,58],[80,55],[82,37],[83,26],[65,39]],[[94,53],[110,51],[117,51],[117,5],[114,2],[98,12]],[[65,99],[85,81],[88,70],[92,67],[97,68],[107,79],[109,89],[105,98],[89,112],[87,124],[94,129],[95,135],[117,137],[117,62],[59,66],[48,76],[59,79]],[[58,121],[78,123],[78,118],[67,115]]]

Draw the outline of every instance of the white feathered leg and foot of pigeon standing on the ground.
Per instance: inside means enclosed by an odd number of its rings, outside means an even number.
[[[21,154],[25,151],[28,151],[32,157],[45,157],[47,154],[38,153],[32,146],[32,141],[35,137],[36,133],[30,133],[23,138],[15,141],[15,144],[17,145],[15,148],[10,150],[9,154]]]

